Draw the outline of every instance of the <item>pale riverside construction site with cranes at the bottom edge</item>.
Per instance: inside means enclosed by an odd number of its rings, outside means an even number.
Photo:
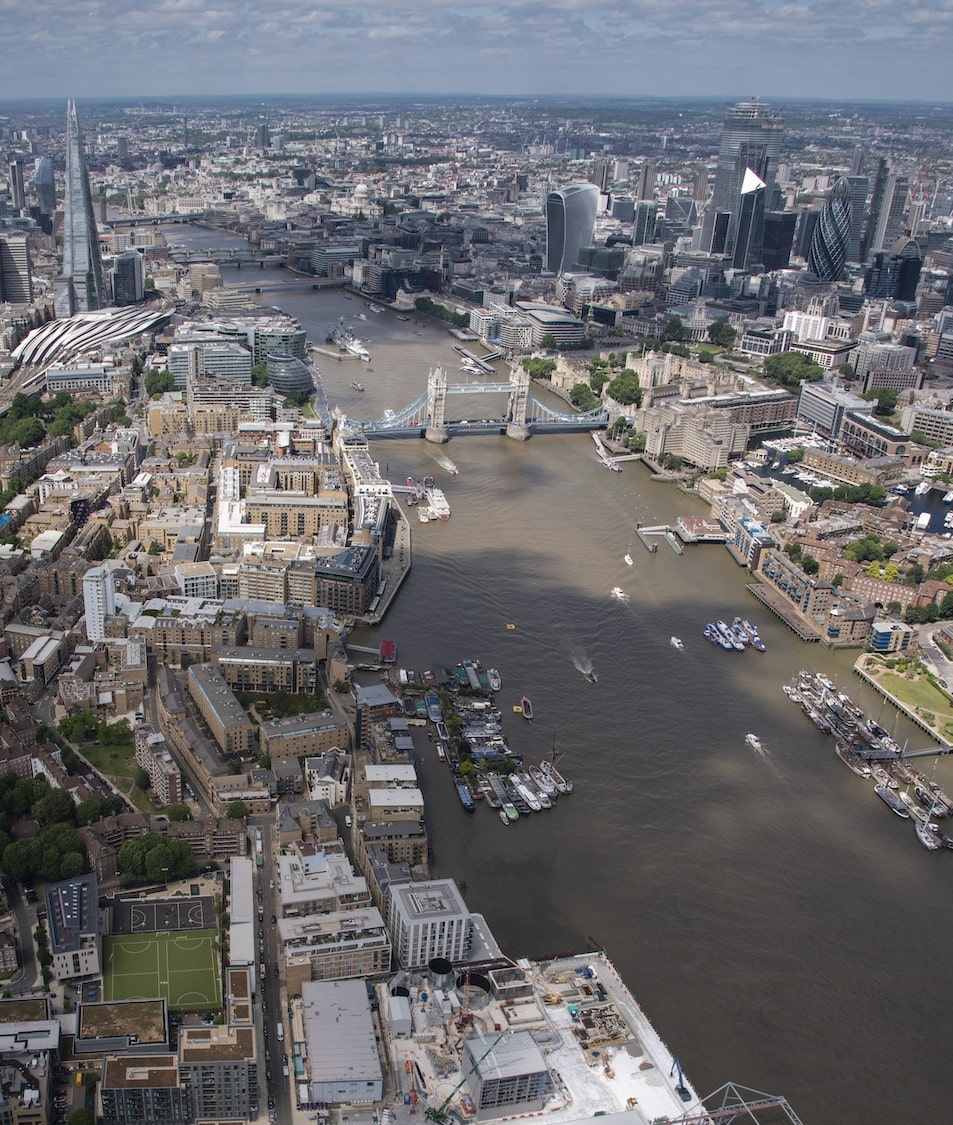
[[[602,953],[482,971],[435,958],[377,986],[377,1005],[385,1125],[617,1114],[662,1125],[762,1120],[755,1110],[768,1109],[797,1122],[782,1097],[730,1083],[705,1108]]]

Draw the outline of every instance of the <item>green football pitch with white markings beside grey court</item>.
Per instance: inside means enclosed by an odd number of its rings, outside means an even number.
[[[214,929],[143,934],[104,940],[104,999],[164,997],[170,1009],[222,1007],[222,973]]]

